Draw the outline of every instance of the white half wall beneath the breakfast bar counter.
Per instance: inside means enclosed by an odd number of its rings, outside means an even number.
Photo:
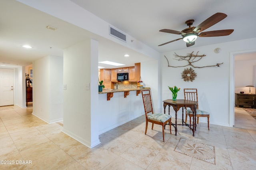
[[[128,121],[144,115],[142,95],[136,96],[136,91],[130,91],[124,98],[124,92],[115,92],[110,101],[107,94],[99,94],[99,134],[107,132]]]

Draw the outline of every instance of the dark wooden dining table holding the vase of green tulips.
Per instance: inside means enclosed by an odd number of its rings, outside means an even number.
[[[175,135],[177,136],[177,125],[186,125],[188,126],[192,132],[193,132],[193,136],[195,136],[195,131],[196,131],[196,105],[197,105],[197,101],[190,101],[190,100],[184,100],[184,99],[177,99],[176,101],[173,101],[172,99],[166,99],[163,101],[164,102],[164,114],[165,114],[165,109],[166,106],[169,106],[169,115],[170,115],[170,106],[173,107],[174,111],[175,111],[175,124],[172,123],[172,125],[175,128]],[[177,112],[178,110],[182,107],[182,124],[177,124]],[[190,124],[187,124],[184,122],[184,108],[190,108],[193,112],[193,125],[192,128],[190,126]],[[185,113],[186,114],[186,113]]]

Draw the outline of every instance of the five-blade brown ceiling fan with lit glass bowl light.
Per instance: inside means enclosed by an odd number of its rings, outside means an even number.
[[[210,16],[204,22],[199,24],[197,27],[190,27],[190,26],[192,26],[192,24],[195,20],[193,20],[193,19],[187,20],[185,22],[185,24],[187,24],[187,26],[189,26],[189,28],[186,28],[186,29],[182,30],[181,32],[175,31],[175,30],[168,30],[168,29],[159,30],[160,32],[166,32],[166,33],[170,33],[170,34],[179,34],[182,36],[182,38],[178,38],[176,40],[172,40],[170,42],[166,42],[166,43],[160,44],[158,46],[165,45],[165,44],[183,39],[184,42],[186,42],[187,47],[190,47],[195,44],[195,40],[197,37],[228,36],[234,30],[216,30],[216,31],[202,32],[202,31],[206,30],[207,28],[213,26],[214,24],[217,24],[218,22],[220,22],[221,20],[223,20],[226,17],[227,17],[226,14],[218,12],[218,13]]]

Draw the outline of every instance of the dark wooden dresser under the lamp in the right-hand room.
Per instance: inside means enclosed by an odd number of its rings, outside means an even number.
[[[236,93],[236,106],[256,108],[256,94]]]

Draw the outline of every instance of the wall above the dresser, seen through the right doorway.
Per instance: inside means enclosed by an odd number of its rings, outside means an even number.
[[[244,91],[244,93],[249,93],[249,87],[247,85],[255,85],[253,82],[255,76],[254,66],[256,65],[256,56],[255,60],[246,60],[246,61],[235,61],[235,93]],[[251,87],[251,93],[255,93],[255,87]]]

